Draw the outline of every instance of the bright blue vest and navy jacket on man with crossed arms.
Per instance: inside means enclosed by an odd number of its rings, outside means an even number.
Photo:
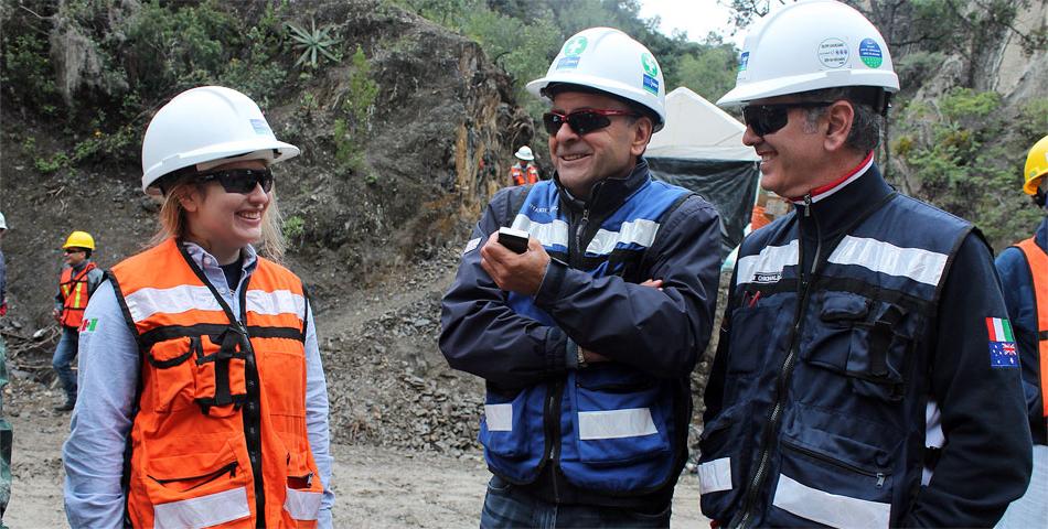
[[[501,291],[479,246],[500,226],[550,255],[534,296]],[[689,374],[709,339],[719,220],[643,160],[577,201],[559,180],[503,190],[442,301],[440,348],[486,380],[489,468],[542,499],[664,506],[686,458]],[[643,287],[663,280],[663,290]],[[578,347],[610,359],[577,366]]]

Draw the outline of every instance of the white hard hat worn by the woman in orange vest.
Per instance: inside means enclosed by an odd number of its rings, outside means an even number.
[[[142,191],[156,195],[161,176],[236,160],[282,162],[299,154],[277,141],[258,105],[231,88],[202,86],[174,96],[157,111],[142,140]]]

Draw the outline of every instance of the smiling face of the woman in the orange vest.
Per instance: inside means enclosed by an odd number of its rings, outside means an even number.
[[[228,169],[266,169],[261,160],[231,162],[212,171]],[[227,193],[216,181],[197,186],[183,198],[185,239],[196,242],[222,264],[236,261],[240,248],[263,236],[263,216],[271,196],[255,185],[248,194]]]

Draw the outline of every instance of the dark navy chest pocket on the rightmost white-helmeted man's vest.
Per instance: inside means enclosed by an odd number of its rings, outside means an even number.
[[[844,375],[856,395],[888,403],[902,400],[918,314],[832,291],[817,293],[808,310],[800,344],[805,363]]]

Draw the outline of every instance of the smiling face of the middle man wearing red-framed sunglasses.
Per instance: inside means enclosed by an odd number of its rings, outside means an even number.
[[[598,94],[564,91],[553,98],[554,112],[569,115],[587,109],[632,111],[624,102]],[[609,119],[610,126],[584,136],[567,123],[549,136],[549,153],[560,184],[576,197],[588,198],[593,184],[601,180],[629,174],[651,139],[649,118],[611,116]]]

